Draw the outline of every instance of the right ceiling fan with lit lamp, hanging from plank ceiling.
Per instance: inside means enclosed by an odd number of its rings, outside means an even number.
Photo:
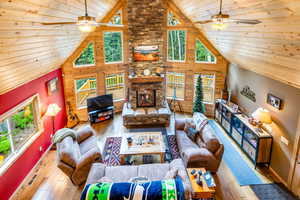
[[[259,24],[259,20],[251,19],[231,19],[229,14],[224,14],[222,12],[223,0],[220,0],[220,11],[216,15],[212,15],[210,20],[196,21],[197,24],[208,24],[213,22],[213,28],[222,30],[227,27],[227,23],[237,23],[237,24]]]

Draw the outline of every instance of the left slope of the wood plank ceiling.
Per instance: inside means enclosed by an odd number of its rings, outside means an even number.
[[[102,19],[117,0],[88,0],[88,12]],[[48,73],[65,61],[86,34],[76,25],[41,22],[76,21],[84,0],[0,1],[0,94]]]

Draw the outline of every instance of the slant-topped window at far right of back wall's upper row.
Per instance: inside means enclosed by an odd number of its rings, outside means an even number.
[[[200,42],[196,40],[196,62],[216,63],[216,57]]]

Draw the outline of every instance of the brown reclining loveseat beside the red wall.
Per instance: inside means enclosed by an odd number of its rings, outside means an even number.
[[[93,129],[88,125],[75,132],[76,139],[65,137],[57,143],[57,166],[75,185],[87,179],[94,162],[101,162],[101,152]]]

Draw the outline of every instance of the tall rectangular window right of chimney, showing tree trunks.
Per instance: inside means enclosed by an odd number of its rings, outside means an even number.
[[[168,31],[168,61],[185,61],[186,31]]]

